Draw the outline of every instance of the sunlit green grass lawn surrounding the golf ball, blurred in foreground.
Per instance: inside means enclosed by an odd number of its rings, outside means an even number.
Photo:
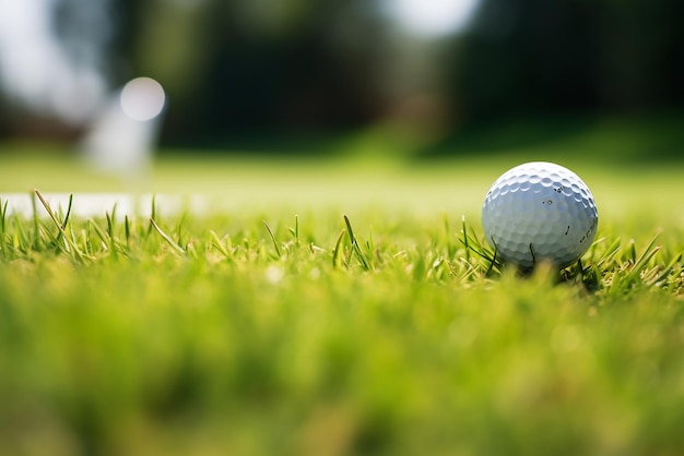
[[[528,158],[174,158],[148,184],[211,211],[153,219],[0,200],[0,448],[682,454],[681,170],[565,161],[597,240],[581,269],[522,276],[486,259],[479,206]],[[120,185],[5,165],[5,191]]]

